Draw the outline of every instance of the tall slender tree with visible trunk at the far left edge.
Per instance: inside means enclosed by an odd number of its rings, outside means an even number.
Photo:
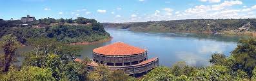
[[[17,38],[12,34],[8,34],[1,38],[1,47],[5,52],[5,59],[4,59],[5,65],[3,70],[4,72],[7,72],[10,68],[10,64],[14,62],[15,51],[19,46],[20,46],[19,41],[17,41]]]

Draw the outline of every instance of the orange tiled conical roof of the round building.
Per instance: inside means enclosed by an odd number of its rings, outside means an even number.
[[[146,50],[133,47],[123,42],[116,42],[104,47],[95,48],[93,52],[103,55],[134,55],[146,52]]]

